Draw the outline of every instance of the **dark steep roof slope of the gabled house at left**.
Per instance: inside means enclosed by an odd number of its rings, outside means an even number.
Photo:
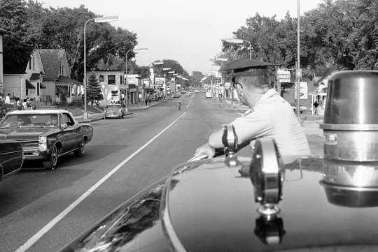
[[[44,79],[57,79],[60,75],[62,61],[67,61],[66,51],[64,49],[40,49]],[[68,66],[68,62],[65,62]]]

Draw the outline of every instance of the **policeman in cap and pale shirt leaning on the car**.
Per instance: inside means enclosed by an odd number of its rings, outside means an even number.
[[[239,148],[256,138],[271,137],[283,156],[309,155],[309,144],[293,108],[274,89],[269,89],[268,67],[262,61],[241,59],[232,61],[224,71],[232,71],[232,84],[240,102],[250,110],[232,121],[238,137]],[[209,141],[198,147],[195,156],[206,154],[209,158],[215,149],[223,148],[222,128],[211,133]]]

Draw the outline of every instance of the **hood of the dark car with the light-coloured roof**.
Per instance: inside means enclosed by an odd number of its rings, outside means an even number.
[[[0,140],[38,140],[38,135],[57,131],[51,128],[0,128]]]

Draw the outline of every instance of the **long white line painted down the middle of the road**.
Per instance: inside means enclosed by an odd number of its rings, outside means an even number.
[[[133,154],[131,154],[124,161],[122,161],[121,163],[119,163],[115,168],[113,168],[113,170],[111,170],[108,174],[106,174],[104,177],[102,177],[102,179],[100,179],[99,181],[97,181],[96,184],[94,184],[91,188],[89,188],[87,191],[85,191],[85,193],[83,193],[77,200],[75,200],[74,202],[72,202],[71,205],[69,205],[68,207],[66,207],[66,209],[64,209],[60,214],[58,214],[49,223],[47,223],[41,230],[39,230],[38,232],[36,232],[35,235],[33,235],[29,240],[27,240],[27,242],[25,242],[25,244],[23,244],[22,246],[20,246],[20,248],[18,248],[18,250],[16,250],[15,252],[24,252],[24,251],[27,251],[27,249],[29,249],[36,242],[38,242],[38,240],[41,239],[41,237],[43,237],[43,235],[45,235],[45,233],[47,233],[59,221],[61,221],[62,218],[64,218],[67,214],[69,214],[69,212],[71,212],[75,207],[77,207],[80,204],[80,202],[82,202],[83,200],[85,200],[85,198],[87,198],[92,192],[94,192],[94,190],[96,190],[99,186],[101,186],[101,184],[103,184],[104,181],[106,181],[106,179],[109,179],[109,177],[111,177],[111,175],[113,175],[117,170],[119,170],[121,167],[123,167],[123,165],[125,165],[125,163],[129,162],[132,158],[134,158],[134,156],[136,156],[137,154],[139,154],[139,152],[141,152],[144,148],[146,148],[148,146],[148,144],[151,144],[151,142],[153,142],[156,138],[158,138],[160,135],[162,135],[162,133],[164,133],[165,131],[167,131],[168,128],[172,127],[172,125],[174,125],[176,123],[176,121],[179,121],[179,119],[181,119],[181,117],[183,117],[185,114],[186,114],[186,112],[183,112],[183,114],[181,114],[181,116],[179,116],[174,121],[172,121],[172,123],[169,124],[165,129],[163,129],[162,131],[160,131],[160,133],[158,133],[158,135],[155,135],[151,140],[149,140],[142,147],[140,147],[139,149],[137,149],[137,151],[134,151]]]

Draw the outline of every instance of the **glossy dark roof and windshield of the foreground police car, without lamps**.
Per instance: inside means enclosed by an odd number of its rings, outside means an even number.
[[[239,172],[250,164],[179,165],[62,251],[378,251],[378,163],[286,161],[281,211],[269,219]]]

